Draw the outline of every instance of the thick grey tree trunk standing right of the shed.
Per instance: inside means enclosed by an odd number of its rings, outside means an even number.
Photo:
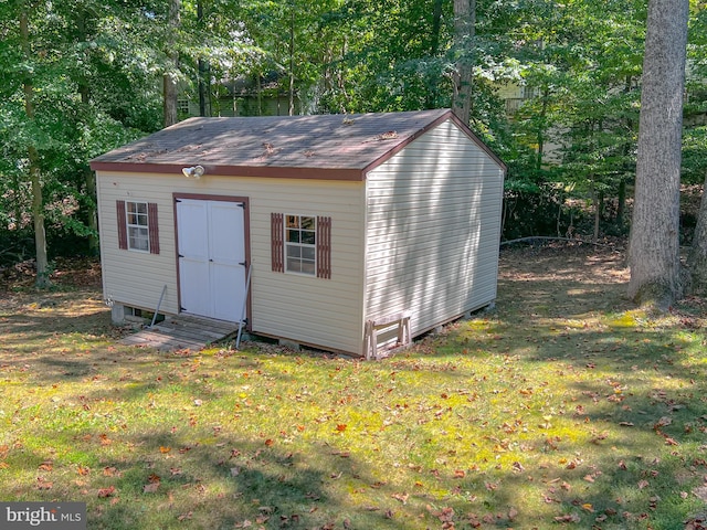
[[[648,0],[629,295],[667,310],[682,296],[679,188],[687,0]]]

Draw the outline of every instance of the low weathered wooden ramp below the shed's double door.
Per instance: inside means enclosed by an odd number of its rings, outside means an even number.
[[[145,328],[124,337],[120,343],[160,350],[186,348],[201,350],[207,344],[222,340],[238,330],[239,325],[234,322],[180,315],[163,320],[154,328]]]

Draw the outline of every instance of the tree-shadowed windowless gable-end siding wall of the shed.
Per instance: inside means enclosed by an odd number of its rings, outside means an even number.
[[[420,335],[496,298],[503,170],[452,121],[368,174],[366,318]]]

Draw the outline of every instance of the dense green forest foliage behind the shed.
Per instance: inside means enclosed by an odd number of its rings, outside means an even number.
[[[699,197],[707,3],[689,6],[682,178]],[[219,115],[239,80],[275,83],[285,114],[452,107],[466,89],[508,165],[504,239],[623,237],[645,32],[645,0],[0,0],[0,266],[34,256],[38,218],[50,258],[96,253],[88,160],[184,117],[178,97]]]

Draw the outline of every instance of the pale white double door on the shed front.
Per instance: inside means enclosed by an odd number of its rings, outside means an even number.
[[[240,321],[247,296],[244,204],[178,199],[177,230],[180,310]]]

